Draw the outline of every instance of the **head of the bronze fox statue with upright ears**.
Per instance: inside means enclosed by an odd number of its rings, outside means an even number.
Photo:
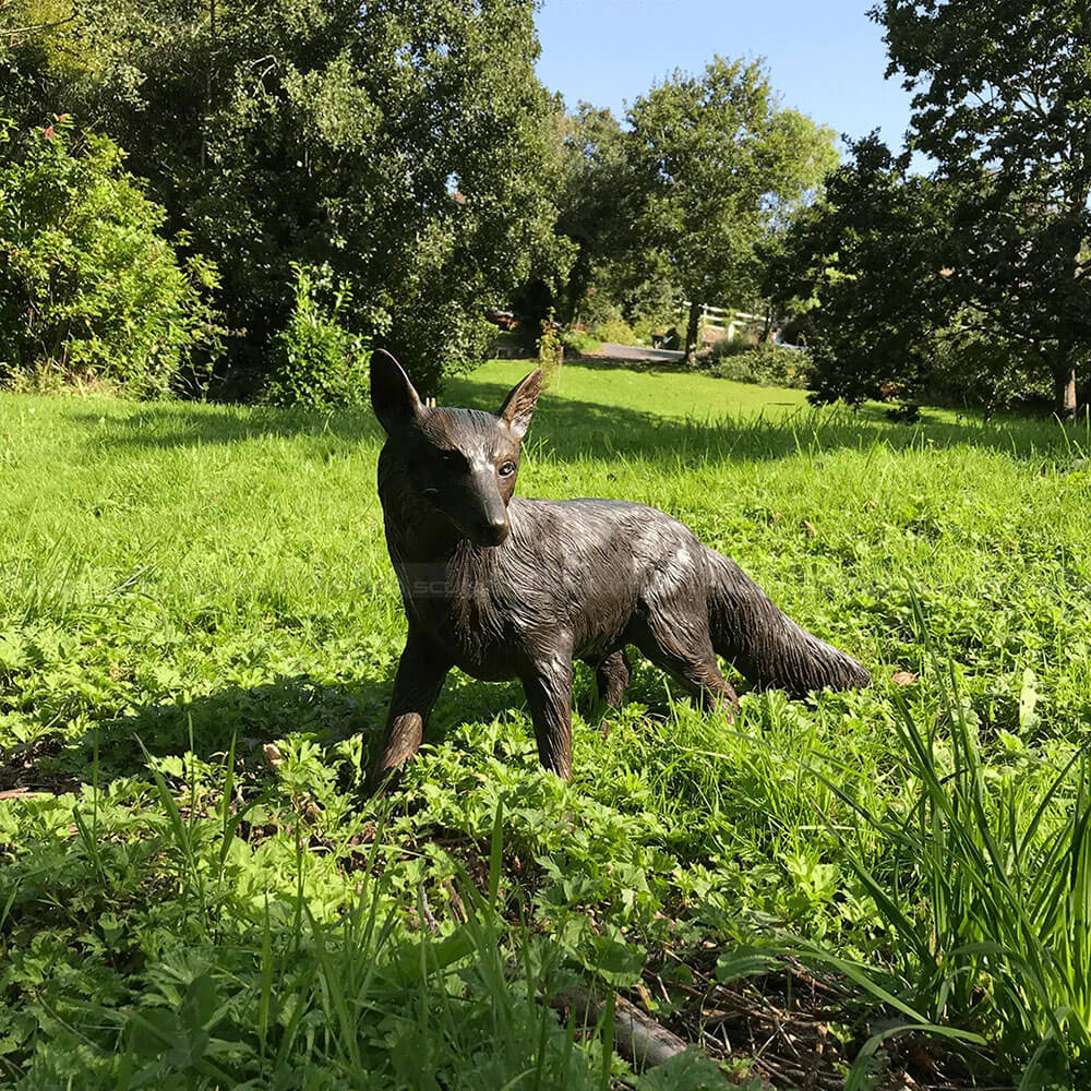
[[[430,408],[389,352],[380,349],[371,357],[371,405],[409,488],[477,546],[500,546],[512,532],[507,505],[541,385],[541,371],[532,371],[496,415]]]

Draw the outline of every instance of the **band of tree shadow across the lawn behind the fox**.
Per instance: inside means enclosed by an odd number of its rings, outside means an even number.
[[[658,365],[657,365],[658,367]],[[666,374],[666,373],[664,373]],[[495,411],[508,393],[505,383],[460,379],[458,401],[470,408]],[[770,406],[784,403],[775,403]],[[155,451],[273,439],[309,437],[316,444],[377,443],[382,431],[370,410],[322,415],[274,409],[202,406],[187,412],[178,406],[152,406],[125,419],[111,421],[104,431],[97,416],[94,443],[115,451]],[[1003,452],[1020,459],[1087,454],[1091,429],[1081,423],[1065,429],[1055,420],[1027,418],[951,422],[924,411],[918,424],[896,424],[877,406],[858,410],[844,407],[801,408],[783,416],[723,416],[709,406],[705,417],[664,417],[624,406],[568,397],[542,399],[531,441],[561,461],[634,457],[669,457],[702,461],[706,458],[762,461],[799,454],[867,448],[885,445],[903,451],[914,447],[970,445]]]

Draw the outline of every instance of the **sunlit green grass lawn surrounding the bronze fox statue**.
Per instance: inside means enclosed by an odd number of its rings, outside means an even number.
[[[603,730],[580,668],[567,786],[518,686],[456,672],[385,800],[379,446],[0,396],[0,1083],[1088,1086],[1086,427],[566,365],[521,493],[663,508],[875,685],[732,724],[645,664]],[[574,985],[704,1053],[635,1075]]]

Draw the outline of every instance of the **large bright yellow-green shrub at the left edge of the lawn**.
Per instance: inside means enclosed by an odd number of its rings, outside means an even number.
[[[0,380],[166,392],[195,348],[218,345],[215,268],[179,260],[107,137],[76,137],[67,118],[0,121]]]

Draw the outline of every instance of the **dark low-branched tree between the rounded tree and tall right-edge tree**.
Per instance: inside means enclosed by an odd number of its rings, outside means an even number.
[[[769,256],[766,292],[807,331],[812,399],[940,399],[983,407],[1047,396],[1042,367],[951,285],[962,193],[909,172],[875,133]],[[1032,364],[1034,361],[1031,361]]]

